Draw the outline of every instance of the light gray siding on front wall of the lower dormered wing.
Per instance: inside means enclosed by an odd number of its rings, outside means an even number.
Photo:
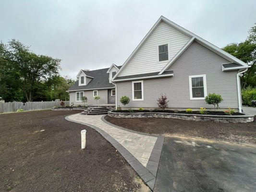
[[[97,89],[95,89],[97,90]],[[79,91],[80,92],[80,91]],[[85,105],[96,105],[97,102],[94,100],[93,97],[93,90],[90,91],[84,91],[84,96],[87,97],[88,101],[85,103]],[[98,90],[98,96],[100,96],[100,99],[98,100],[98,104],[108,104],[108,90],[102,89]],[[74,102],[74,105],[84,105],[83,101],[76,101],[76,92],[70,92],[70,105],[72,102]]]

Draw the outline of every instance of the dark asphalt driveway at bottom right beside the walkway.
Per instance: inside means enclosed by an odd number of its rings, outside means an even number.
[[[166,137],[154,192],[256,192],[256,148]]]

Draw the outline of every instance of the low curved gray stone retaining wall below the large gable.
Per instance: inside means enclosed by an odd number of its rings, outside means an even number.
[[[250,114],[228,116],[228,115],[195,115],[195,114],[179,114],[179,113],[118,113],[110,111],[108,116],[115,118],[172,118],[181,120],[196,121],[213,121],[224,123],[247,123],[254,120],[254,116]]]

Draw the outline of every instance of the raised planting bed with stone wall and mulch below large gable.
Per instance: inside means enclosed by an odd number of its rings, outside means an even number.
[[[252,122],[254,120],[253,115],[244,113],[233,113],[232,115],[226,115],[222,111],[205,111],[207,114],[200,114],[198,111],[192,113],[186,113],[185,111],[178,111],[174,113],[172,110],[153,110],[153,111],[139,111],[139,110],[118,110],[110,111],[108,116],[115,118],[171,118],[182,120],[196,120],[196,121],[214,121],[214,122]],[[221,115],[219,115],[221,114]]]

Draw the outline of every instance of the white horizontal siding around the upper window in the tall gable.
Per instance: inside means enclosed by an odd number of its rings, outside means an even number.
[[[159,72],[189,41],[190,37],[161,22],[119,76]],[[158,62],[158,46],[168,44],[169,60]]]

